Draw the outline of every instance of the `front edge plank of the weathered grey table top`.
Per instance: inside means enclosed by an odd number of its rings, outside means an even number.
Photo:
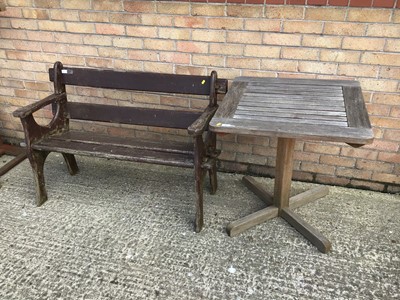
[[[210,122],[214,132],[249,134],[299,138],[305,140],[321,140],[352,144],[372,143],[374,135],[370,128],[338,127],[333,125],[313,125],[245,120],[214,117]]]

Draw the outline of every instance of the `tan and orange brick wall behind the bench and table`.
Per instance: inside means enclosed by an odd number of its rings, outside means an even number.
[[[299,142],[295,179],[400,191],[400,10],[393,8],[399,1],[205,2],[3,1],[7,10],[0,13],[0,135],[23,138],[11,113],[52,91],[47,69],[56,60],[73,66],[185,74],[215,69],[228,79],[243,75],[358,80],[374,143],[354,149]],[[68,92],[72,101],[188,109],[201,105],[196,99],[127,92]],[[44,123],[48,117],[49,111],[37,116]],[[156,128],[74,126],[185,139],[182,132]],[[275,139],[227,135],[218,143],[222,169],[273,175]]]

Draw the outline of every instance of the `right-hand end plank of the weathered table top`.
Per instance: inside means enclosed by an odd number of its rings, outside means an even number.
[[[349,126],[371,128],[361,88],[343,87],[343,95]]]

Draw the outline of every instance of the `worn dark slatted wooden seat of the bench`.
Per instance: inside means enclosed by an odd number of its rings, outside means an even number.
[[[68,133],[71,135],[71,132]],[[35,150],[54,151],[61,153],[95,156],[102,158],[113,158],[119,160],[161,164],[168,166],[179,166],[191,168],[194,166],[193,153],[188,151],[170,152],[165,147],[165,142],[143,142],[135,139],[124,139],[123,144],[118,144],[116,138],[95,133],[86,133],[87,139],[83,135],[72,134],[73,139],[68,139],[68,135],[58,135],[46,138],[32,145]],[[79,139],[81,138],[81,139]],[[122,141],[122,139],[121,139]],[[157,147],[158,145],[158,147]],[[188,148],[189,145],[177,144],[178,148]],[[192,145],[193,146],[193,145]]]

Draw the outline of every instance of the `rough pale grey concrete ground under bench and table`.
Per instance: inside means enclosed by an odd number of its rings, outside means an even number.
[[[400,195],[330,187],[296,209],[322,254],[278,218],[230,238],[264,207],[240,175],[218,174],[196,234],[192,170],[77,160],[49,156],[41,207],[28,161],[0,178],[0,299],[400,299]]]

